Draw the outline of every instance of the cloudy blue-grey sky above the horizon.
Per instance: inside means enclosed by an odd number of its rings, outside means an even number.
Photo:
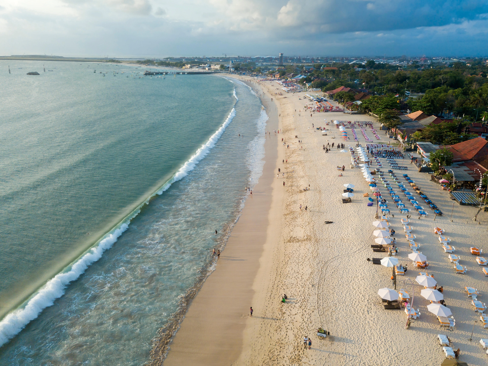
[[[0,55],[488,56],[488,0],[0,0]]]

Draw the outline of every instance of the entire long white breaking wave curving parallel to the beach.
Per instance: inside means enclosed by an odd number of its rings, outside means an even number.
[[[235,93],[235,90],[234,90]],[[235,94],[234,94],[235,96]],[[237,96],[236,100],[237,99]],[[236,101],[237,103],[237,101]],[[234,104],[235,106],[235,104]],[[227,115],[222,126],[214,132],[212,136],[183,164],[183,166],[154,194],[151,194],[141,205],[126,216],[112,230],[105,234],[102,239],[97,241],[91,248],[88,248],[80,257],[71,262],[60,273],[47,281],[39,290],[32,294],[20,306],[8,313],[0,321],[0,346],[15,337],[28,323],[36,319],[42,310],[53,305],[54,301],[60,298],[70,282],[77,280],[81,274],[94,262],[102,258],[103,252],[110,249],[122,233],[127,230],[131,220],[140,212],[142,206],[149,203],[151,197],[156,194],[163,194],[173,183],[179,181],[210,152],[219,138],[224,133],[226,127],[232,122],[236,115],[236,110],[232,110]]]

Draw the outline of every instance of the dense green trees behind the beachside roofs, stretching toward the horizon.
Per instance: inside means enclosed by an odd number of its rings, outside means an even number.
[[[312,66],[312,65],[311,65]],[[337,67],[337,70],[325,67]],[[307,75],[306,83],[320,87],[324,91],[339,86],[351,88],[366,87],[375,95],[399,94],[405,99],[410,111],[423,110],[426,114],[453,112],[455,116],[465,116],[472,121],[488,118],[488,65],[484,59],[471,60],[467,64],[453,65],[409,65],[399,68],[395,65],[376,64],[373,60],[366,65],[313,64],[305,70],[303,65],[287,65],[286,73]],[[363,68],[358,71],[358,68]],[[302,79],[304,80],[304,79]],[[364,83],[364,84],[363,84]],[[347,96],[341,99],[348,100]],[[350,99],[350,98],[349,98]]]

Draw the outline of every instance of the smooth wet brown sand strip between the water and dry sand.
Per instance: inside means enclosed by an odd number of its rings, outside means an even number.
[[[256,90],[249,82],[246,84]],[[269,236],[268,214],[278,183],[274,178],[278,136],[272,132],[278,129],[278,113],[269,97],[260,99],[269,118],[266,130],[271,132],[264,143],[263,174],[252,196],[247,197],[215,270],[189,305],[169,345],[165,366],[230,365],[241,354],[246,318],[253,306],[253,283]]]

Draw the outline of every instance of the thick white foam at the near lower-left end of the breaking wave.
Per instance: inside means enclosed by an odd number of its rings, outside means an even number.
[[[69,270],[57,274],[49,280],[25,305],[24,308],[9,313],[0,322],[0,346],[20,332],[30,321],[36,319],[41,311],[51,306],[54,301],[64,294],[66,286],[88,268],[90,264],[102,257],[122,233],[127,230],[128,224],[123,223],[113,233],[108,234],[100,243],[91,248],[88,253],[75,262]]]

